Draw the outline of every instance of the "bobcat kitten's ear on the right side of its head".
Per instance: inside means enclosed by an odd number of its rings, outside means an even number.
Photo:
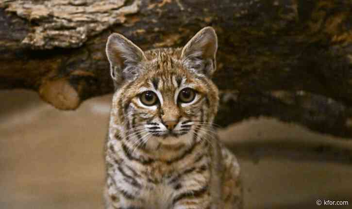
[[[217,50],[217,34],[212,27],[205,27],[184,46],[181,59],[188,69],[211,77],[216,70]]]

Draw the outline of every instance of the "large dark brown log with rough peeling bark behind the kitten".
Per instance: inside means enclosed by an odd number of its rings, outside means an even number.
[[[111,32],[147,50],[180,47],[209,25],[218,124],[266,115],[352,138],[350,0],[0,0],[0,88],[75,109],[113,91]]]

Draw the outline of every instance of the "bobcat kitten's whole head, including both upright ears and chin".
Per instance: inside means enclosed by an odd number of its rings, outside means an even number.
[[[218,109],[215,71],[216,34],[197,33],[181,49],[143,52],[119,34],[109,37],[107,55],[117,86],[113,109],[122,137],[136,146],[191,144],[209,128]]]

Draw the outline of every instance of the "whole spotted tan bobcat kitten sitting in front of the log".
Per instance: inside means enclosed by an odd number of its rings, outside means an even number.
[[[114,94],[106,142],[106,209],[240,209],[239,165],[213,119],[217,35],[143,52],[113,33]]]

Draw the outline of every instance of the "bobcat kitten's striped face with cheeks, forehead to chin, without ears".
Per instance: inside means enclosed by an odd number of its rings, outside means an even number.
[[[162,143],[173,144],[178,143],[178,138],[187,138],[180,136],[201,129],[200,125],[208,125],[212,119],[210,105],[217,102],[217,93],[209,91],[201,78],[172,69],[145,77],[131,86],[131,100],[124,107],[127,115],[131,115],[129,128],[135,129],[135,133],[146,140],[160,138]]]

